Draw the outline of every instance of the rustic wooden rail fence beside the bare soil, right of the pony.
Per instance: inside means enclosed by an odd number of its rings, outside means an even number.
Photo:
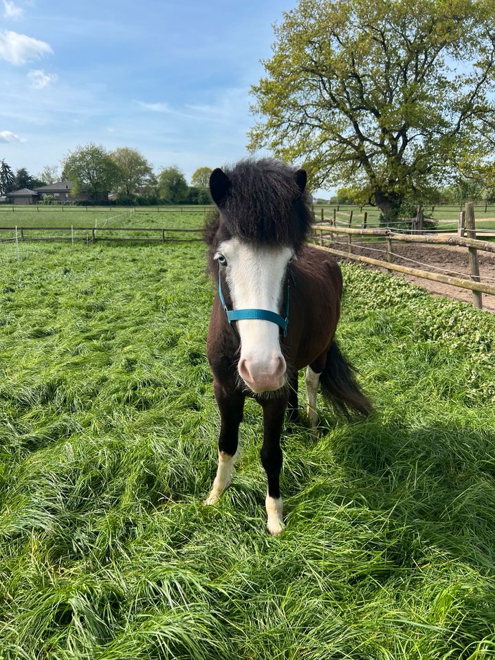
[[[455,236],[441,236],[438,234],[421,235],[419,233],[401,234],[388,228],[368,229],[363,227],[360,229],[353,229],[350,226],[352,217],[349,220],[349,226],[347,227],[337,226],[337,224],[333,222],[333,218],[329,220],[329,224],[320,222],[314,225],[314,240],[315,243],[320,243],[319,245],[316,245],[316,247],[320,250],[330,252],[331,254],[340,256],[344,259],[352,259],[353,261],[360,261],[362,263],[369,263],[370,265],[386,268],[389,273],[399,272],[435,282],[449,284],[454,287],[460,287],[462,289],[470,289],[473,292],[473,304],[479,309],[483,308],[483,302],[481,298],[482,293],[495,295],[495,285],[481,282],[478,264],[478,250],[495,253],[495,243],[490,243],[489,241],[480,241],[476,239],[473,203],[467,203],[465,205],[465,210],[459,212],[459,224],[457,235]],[[419,232],[421,230],[416,228],[413,231]],[[465,236],[466,233],[470,235]],[[335,236],[340,234],[347,235],[347,250],[339,250],[335,247],[331,247],[332,244],[335,244]],[[369,256],[355,254],[353,252],[353,236],[375,236],[378,239],[383,239],[386,241],[386,261],[374,259],[373,257]],[[426,245],[456,245],[461,248],[467,248],[471,279],[432,273],[426,270],[420,270],[417,268],[392,263],[393,241],[400,241],[403,243],[424,243]],[[330,243],[330,245],[328,243]],[[366,245],[359,245],[359,248],[360,250],[366,250]]]

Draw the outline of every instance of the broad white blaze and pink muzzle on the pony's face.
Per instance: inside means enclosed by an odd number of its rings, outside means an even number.
[[[287,263],[293,254],[291,248],[254,246],[234,238],[223,241],[217,254],[223,254],[227,260],[225,278],[233,309],[267,309],[279,314]],[[285,360],[278,325],[259,319],[235,323],[241,337],[239,373],[245,383],[254,392],[282,387]]]

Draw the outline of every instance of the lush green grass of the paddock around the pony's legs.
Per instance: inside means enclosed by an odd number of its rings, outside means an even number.
[[[495,657],[494,317],[343,270],[377,413],[289,429],[272,538],[252,401],[202,504],[203,246],[0,245],[0,657]]]

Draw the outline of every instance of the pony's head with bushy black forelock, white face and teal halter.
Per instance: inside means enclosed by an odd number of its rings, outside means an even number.
[[[287,305],[288,265],[297,259],[312,220],[306,178],[305,170],[271,159],[243,160],[210,176],[217,206],[206,233],[210,270],[218,273],[225,307],[237,313],[238,371],[254,393],[285,384],[283,324],[277,317],[283,319]]]

